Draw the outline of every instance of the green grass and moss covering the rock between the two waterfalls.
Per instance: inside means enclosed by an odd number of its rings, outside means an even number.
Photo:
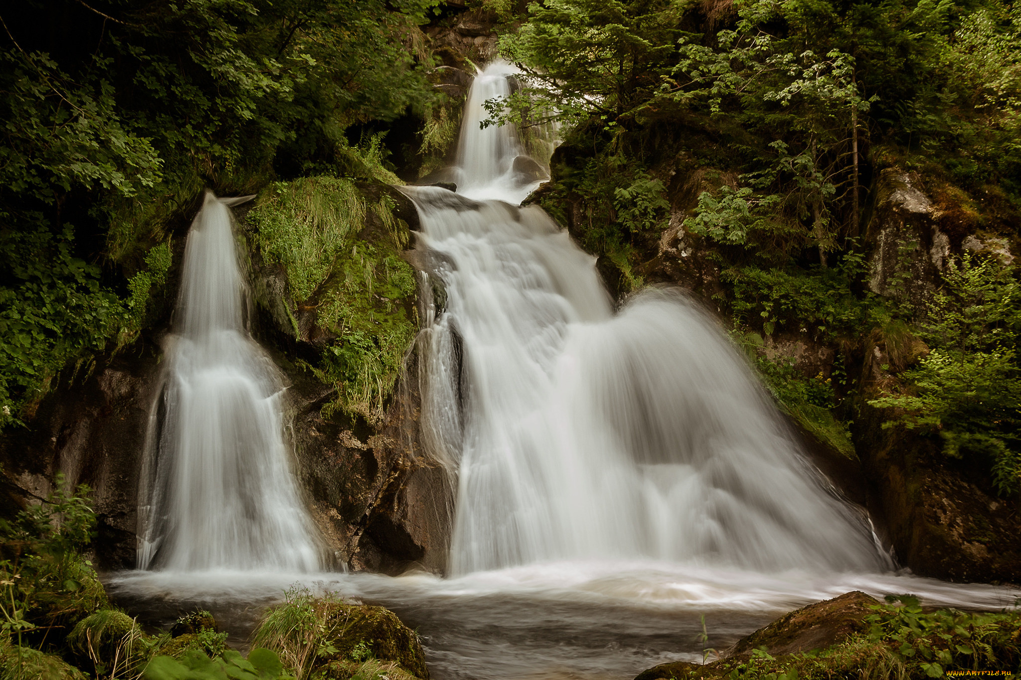
[[[295,336],[301,307],[335,337],[308,364],[337,389],[326,415],[379,422],[417,332],[415,274],[399,255],[407,225],[393,207],[385,194],[370,204],[351,180],[320,176],[272,185],[249,215],[263,257],[286,273]]]

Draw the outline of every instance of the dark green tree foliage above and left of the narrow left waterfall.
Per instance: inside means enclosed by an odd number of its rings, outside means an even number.
[[[436,4],[5,8],[0,425],[31,416],[62,367],[137,334],[165,280],[166,231],[205,187],[344,172],[352,125],[431,110],[419,24]]]

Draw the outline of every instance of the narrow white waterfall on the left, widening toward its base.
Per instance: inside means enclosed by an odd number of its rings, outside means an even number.
[[[321,566],[284,441],[284,384],[245,329],[245,302],[231,211],[206,193],[150,418],[140,569]]]

